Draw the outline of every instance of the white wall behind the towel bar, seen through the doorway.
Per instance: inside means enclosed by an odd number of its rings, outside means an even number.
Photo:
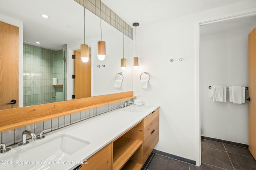
[[[248,34],[253,28],[243,27],[201,35],[202,136],[248,144],[248,101],[245,104],[233,104],[228,102],[227,95],[227,103],[212,102],[208,86],[248,86]]]

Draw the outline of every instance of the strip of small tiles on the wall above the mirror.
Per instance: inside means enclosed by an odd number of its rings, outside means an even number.
[[[90,12],[100,17],[100,0],[75,0],[80,5],[84,6]],[[102,3],[102,2],[101,2]],[[102,3],[102,20],[106,21],[131,39],[133,39],[133,28],[114,13],[108,6]]]

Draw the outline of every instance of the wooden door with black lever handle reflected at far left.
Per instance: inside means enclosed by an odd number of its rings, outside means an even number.
[[[19,27],[0,21],[0,110],[18,107]],[[16,104],[6,104],[16,100]]]

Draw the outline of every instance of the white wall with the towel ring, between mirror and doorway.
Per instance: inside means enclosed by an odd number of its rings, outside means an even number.
[[[151,25],[140,23],[137,28],[140,67],[134,70],[134,95],[141,94],[146,104],[160,106],[159,142],[155,149],[199,162],[195,24],[255,7],[255,1],[244,1]],[[180,57],[183,62],[178,61]],[[173,63],[169,61],[171,58]],[[144,71],[151,75],[150,90],[140,88],[140,74]]]

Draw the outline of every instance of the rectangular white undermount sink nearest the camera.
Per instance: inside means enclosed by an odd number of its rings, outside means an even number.
[[[14,161],[14,164],[0,164],[0,169],[8,169],[10,167],[17,170],[46,170],[52,164],[58,164],[56,161],[72,161],[72,156],[79,150],[90,145],[90,142],[72,137],[70,135],[62,134],[52,139],[43,139],[42,143],[30,145],[30,147],[20,150],[16,149],[10,155],[0,157],[0,160]],[[4,155],[2,155],[4,156]],[[16,162],[32,161],[34,164],[17,164]],[[35,162],[39,161],[39,164]],[[53,163],[54,162],[54,163]]]

